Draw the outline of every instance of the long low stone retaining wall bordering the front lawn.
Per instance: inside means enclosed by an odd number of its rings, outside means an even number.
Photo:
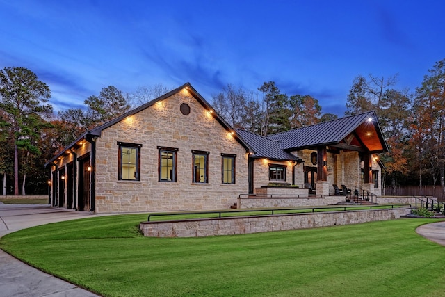
[[[410,212],[411,209],[409,207],[359,211],[332,211],[311,214],[142,222],[139,227],[144,236],[199,237],[348,225],[372,222],[375,220],[394,220],[406,214],[410,214]]]

